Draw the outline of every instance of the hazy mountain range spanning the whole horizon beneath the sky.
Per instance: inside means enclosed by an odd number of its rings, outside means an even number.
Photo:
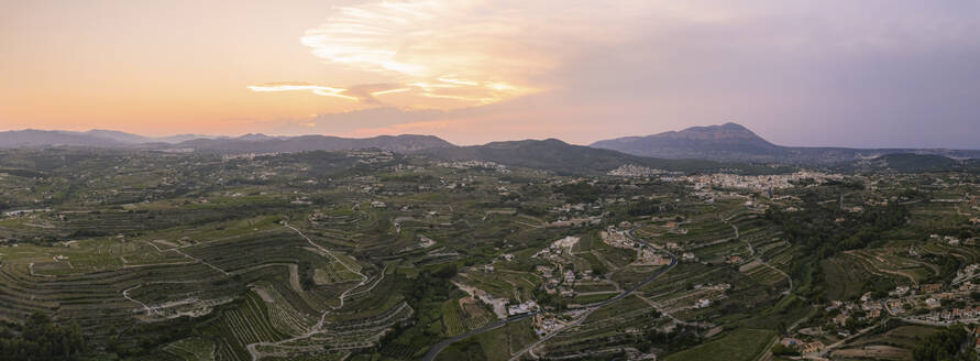
[[[277,153],[379,149],[399,153],[426,154],[442,160],[481,160],[529,167],[574,171],[588,167],[607,171],[623,164],[663,169],[700,169],[720,166],[717,162],[832,165],[879,157],[884,154],[915,153],[953,158],[978,158],[977,150],[944,149],[847,149],[799,147],[773,144],[736,123],[694,127],[647,136],[598,141],[590,146],[572,145],[555,139],[492,142],[456,146],[433,135],[381,135],[351,139],[327,135],[269,136],[246,134],[238,138],[181,134],[150,138],[120,131],[87,132],[22,130],[0,132],[0,147],[46,147],[58,145],[143,150],[179,150],[212,153]],[[669,160],[687,160],[676,162]],[[692,162],[690,160],[703,160]]]

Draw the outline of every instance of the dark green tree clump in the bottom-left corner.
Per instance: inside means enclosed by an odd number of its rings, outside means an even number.
[[[34,313],[24,325],[0,331],[0,359],[10,361],[77,360],[86,351],[78,324],[60,326]]]

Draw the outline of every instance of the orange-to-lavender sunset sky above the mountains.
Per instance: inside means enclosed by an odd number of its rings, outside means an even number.
[[[0,130],[980,149],[980,1],[0,0]]]

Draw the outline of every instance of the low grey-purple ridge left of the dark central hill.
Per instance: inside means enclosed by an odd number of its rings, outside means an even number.
[[[263,134],[247,134],[240,138],[196,139],[172,145],[191,147],[197,151],[219,153],[283,153],[306,151],[346,151],[379,149],[407,153],[429,147],[455,146],[433,135],[381,135],[353,139],[324,135],[302,135],[274,138]]]

